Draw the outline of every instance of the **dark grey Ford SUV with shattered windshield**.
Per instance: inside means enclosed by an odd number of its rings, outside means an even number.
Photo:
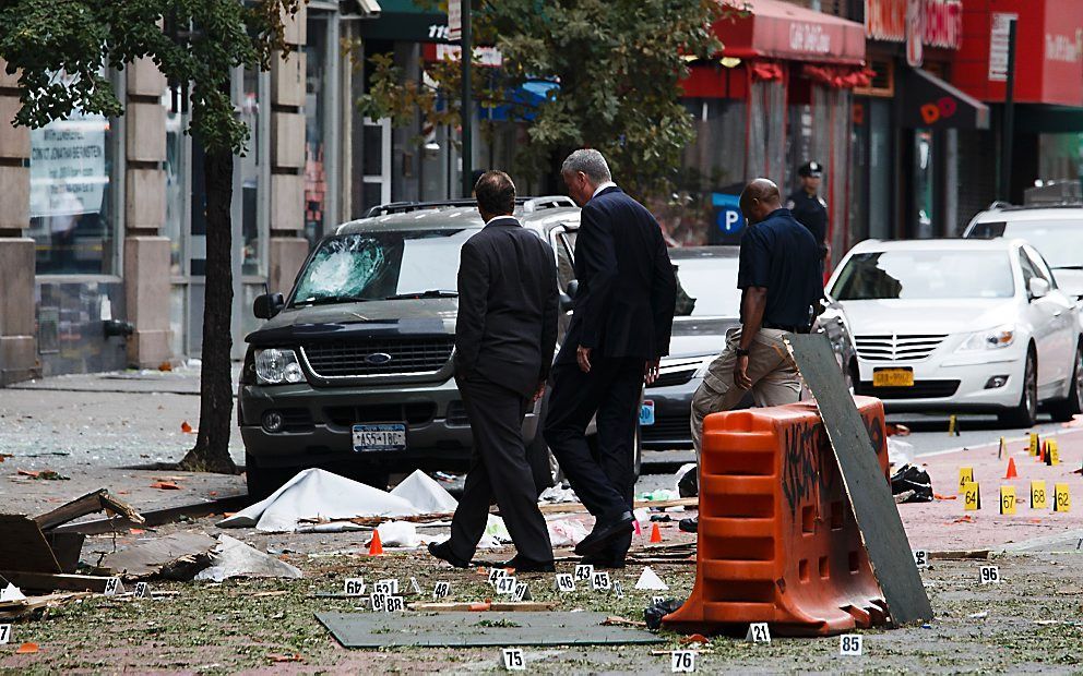
[[[579,208],[568,197],[522,200],[516,216],[552,245],[567,289]],[[377,207],[316,246],[288,297],[255,300],[267,322],[246,338],[238,388],[250,495],[311,467],[380,486],[390,472],[466,468],[455,288],[460,249],[483,225],[473,202]],[[564,297],[561,339],[570,304]],[[544,410],[535,405],[523,425],[543,486],[554,476]]]

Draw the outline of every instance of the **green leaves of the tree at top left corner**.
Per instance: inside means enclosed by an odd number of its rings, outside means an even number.
[[[22,73],[15,123],[41,126],[80,109],[121,114],[103,73],[147,57],[169,82],[190,83],[191,131],[204,146],[242,153],[249,130],[229,100],[230,70],[270,69],[286,47],[282,19],[299,1],[0,0],[0,58]]]

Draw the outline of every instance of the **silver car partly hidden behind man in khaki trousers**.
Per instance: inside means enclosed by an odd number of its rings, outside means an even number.
[[[662,360],[658,379],[646,388],[641,415],[643,447],[691,448],[691,406],[707,365],[722,352],[726,331],[740,325],[741,291],[737,288],[739,246],[670,249],[678,297],[669,357]],[[813,325],[826,334],[847,383],[857,370],[857,354],[836,303],[828,303]],[[741,407],[753,406],[751,395]],[[653,411],[652,411],[653,409]]]

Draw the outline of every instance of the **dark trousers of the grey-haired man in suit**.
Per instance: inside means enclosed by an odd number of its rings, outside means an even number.
[[[642,359],[592,359],[591,373],[579,364],[557,364],[546,413],[545,440],[575,495],[596,519],[632,509],[635,490],[635,427],[643,387]],[[586,427],[597,414],[598,444],[592,451]],[[623,560],[631,532],[603,554]]]

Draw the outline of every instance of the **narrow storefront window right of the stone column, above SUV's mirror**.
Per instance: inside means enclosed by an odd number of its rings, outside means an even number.
[[[325,125],[328,106],[328,17],[310,12],[305,46],[305,234],[323,237],[326,216]]]

